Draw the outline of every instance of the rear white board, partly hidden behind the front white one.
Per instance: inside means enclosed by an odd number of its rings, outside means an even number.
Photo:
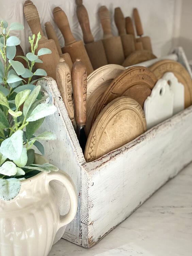
[[[166,72],[162,79],[166,80],[173,92],[173,114],[175,115],[185,108],[184,86],[178,82],[178,79],[172,72]]]

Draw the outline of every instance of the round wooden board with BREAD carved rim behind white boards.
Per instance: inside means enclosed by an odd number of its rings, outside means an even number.
[[[158,79],[166,72],[173,72],[175,77],[185,88],[185,108],[192,103],[192,81],[188,71],[179,62],[173,60],[161,60],[151,65],[150,70],[156,75]]]

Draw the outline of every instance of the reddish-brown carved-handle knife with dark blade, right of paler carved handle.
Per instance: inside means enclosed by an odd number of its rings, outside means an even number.
[[[86,67],[80,59],[73,64],[72,72],[73,97],[75,105],[75,120],[77,124],[77,138],[84,152],[86,136],[84,127],[86,125],[86,97],[87,97],[87,72]]]

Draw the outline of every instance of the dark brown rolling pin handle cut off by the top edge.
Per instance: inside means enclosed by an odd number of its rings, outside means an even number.
[[[76,0],[77,4],[77,18],[79,20],[82,32],[83,32],[83,41],[85,44],[93,43],[94,38],[91,33],[89,16],[85,6],[82,4],[82,0]]]

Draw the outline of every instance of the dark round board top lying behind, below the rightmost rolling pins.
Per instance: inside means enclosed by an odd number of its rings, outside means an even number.
[[[156,59],[157,57],[150,51],[137,50],[132,52],[123,62],[122,66],[128,67],[140,62]]]

